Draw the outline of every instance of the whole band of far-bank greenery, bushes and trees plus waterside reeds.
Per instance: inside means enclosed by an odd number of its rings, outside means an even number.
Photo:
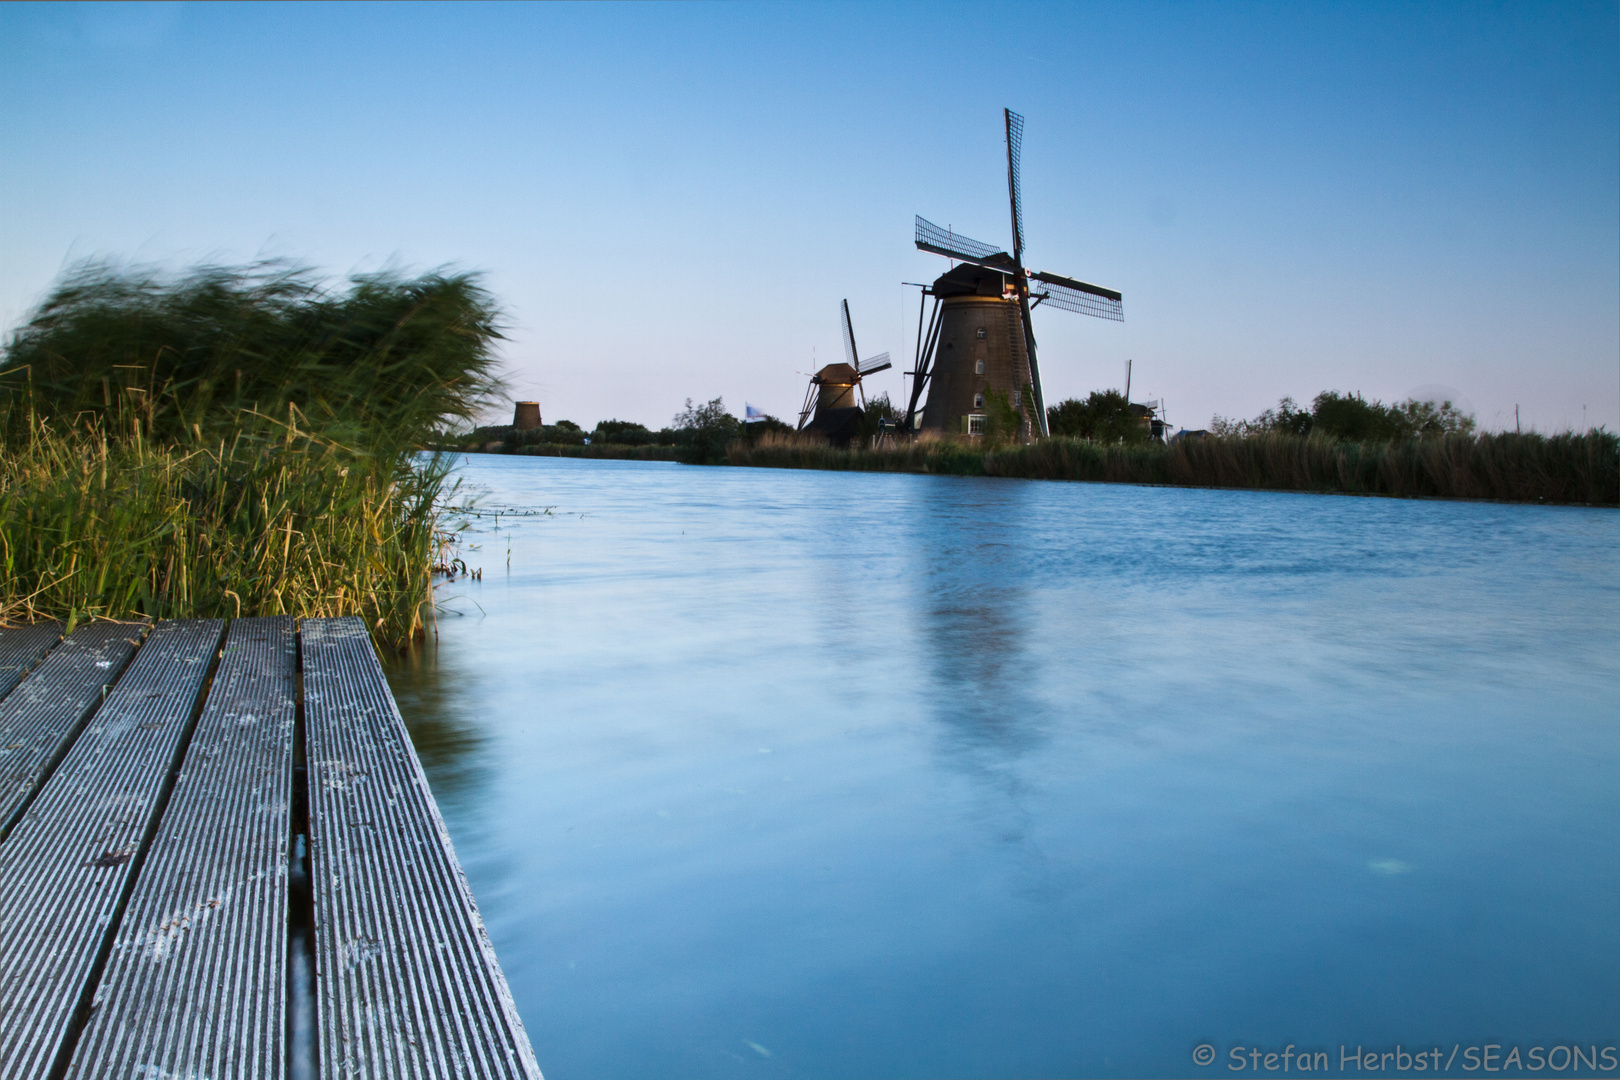
[[[868,403],[893,418],[885,395]],[[831,445],[766,418],[742,424],[714,398],[687,402],[674,424],[651,431],[603,421],[593,431],[559,421],[520,431],[478,427],[441,450],[575,458],[627,458],[872,473],[938,473],[1024,479],[1228,487],[1400,499],[1487,499],[1571,505],[1620,504],[1620,440],[1605,431],[1476,432],[1450,402],[1383,405],[1319,393],[1302,408],[1283,398],[1254,419],[1217,416],[1212,431],[1157,442],[1118,390],[1048,410],[1053,436],[1032,444],[920,436]],[[1003,424],[1014,431],[1016,424]]]

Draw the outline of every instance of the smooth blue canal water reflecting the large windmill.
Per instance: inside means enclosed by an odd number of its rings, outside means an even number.
[[[390,678],[551,1080],[1620,1036],[1614,512],[462,476]]]

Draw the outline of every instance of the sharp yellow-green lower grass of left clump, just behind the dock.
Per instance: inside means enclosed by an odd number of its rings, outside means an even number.
[[[402,646],[431,619],[446,471],[293,426],[175,445],[36,423],[0,455],[0,620],[361,615]]]

